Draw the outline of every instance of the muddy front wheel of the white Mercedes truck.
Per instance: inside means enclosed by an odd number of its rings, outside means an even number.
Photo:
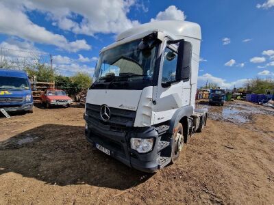
[[[184,145],[184,130],[183,125],[178,123],[174,129],[172,139],[172,150],[171,150],[171,163],[175,163],[179,158],[179,154],[182,152],[182,148]]]

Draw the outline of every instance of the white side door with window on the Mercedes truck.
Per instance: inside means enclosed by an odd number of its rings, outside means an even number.
[[[151,124],[171,120],[179,107],[190,104],[190,81],[175,81],[176,67],[177,47],[166,46],[162,51],[158,87],[155,92],[156,103],[153,106]]]

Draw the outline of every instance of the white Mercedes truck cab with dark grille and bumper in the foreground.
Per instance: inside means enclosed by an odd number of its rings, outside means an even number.
[[[175,163],[207,113],[195,109],[201,29],[167,20],[121,33],[101,50],[88,90],[86,138],[129,167]]]

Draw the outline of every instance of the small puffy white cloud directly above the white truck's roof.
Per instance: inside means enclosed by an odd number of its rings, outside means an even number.
[[[151,18],[151,21],[155,20],[185,20],[186,16],[184,12],[179,10],[175,5],[170,5],[164,12],[159,12],[156,18]]]

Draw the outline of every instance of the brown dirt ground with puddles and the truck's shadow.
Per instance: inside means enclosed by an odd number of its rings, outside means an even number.
[[[126,167],[84,137],[84,108],[0,118],[0,204],[274,204],[274,109],[209,107],[177,163]]]

